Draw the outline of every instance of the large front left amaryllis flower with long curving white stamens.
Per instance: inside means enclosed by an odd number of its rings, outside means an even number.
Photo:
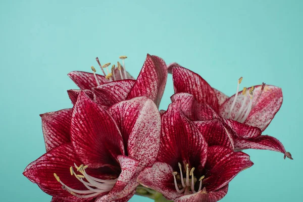
[[[157,158],[161,120],[146,97],[105,110],[81,92],[73,109],[41,117],[47,152],[23,174],[53,202],[127,201]]]

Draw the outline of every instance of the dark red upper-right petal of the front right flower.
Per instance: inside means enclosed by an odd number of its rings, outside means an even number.
[[[219,120],[194,121],[209,146],[220,145],[234,149],[233,137]]]

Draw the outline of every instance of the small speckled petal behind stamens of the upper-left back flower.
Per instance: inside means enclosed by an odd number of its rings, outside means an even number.
[[[68,76],[76,83],[76,85],[84,90],[84,89],[91,89],[92,87],[96,87],[97,86],[97,82],[93,76],[93,73],[89,73],[89,72],[81,72],[81,71],[73,71],[68,73]],[[96,74],[97,79],[99,81],[99,84],[104,84],[109,82],[109,80],[107,80],[105,78],[105,76]]]

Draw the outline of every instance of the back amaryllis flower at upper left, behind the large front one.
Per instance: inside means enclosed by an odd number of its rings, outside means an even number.
[[[120,57],[121,58],[121,57]],[[69,97],[74,104],[80,91],[84,91],[90,98],[105,108],[114,105],[125,99],[131,99],[138,96],[146,96],[156,103],[159,107],[162,98],[166,80],[167,68],[165,62],[157,57],[147,54],[146,60],[136,80],[125,71],[124,59],[123,66],[118,63],[118,67],[113,66],[111,72],[107,70],[106,75],[104,68],[100,68],[105,76],[95,74],[95,68],[92,67],[93,73],[74,71],[69,73],[69,77],[80,87],[81,90],[68,90]]]

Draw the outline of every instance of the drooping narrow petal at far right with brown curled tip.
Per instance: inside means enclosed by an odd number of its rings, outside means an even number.
[[[261,135],[257,138],[252,139],[235,138],[234,141],[235,150],[242,150],[247,148],[267,149],[281,152],[284,154],[284,159],[286,157],[292,159],[290,153],[285,150],[283,144],[277,138],[269,135]]]

